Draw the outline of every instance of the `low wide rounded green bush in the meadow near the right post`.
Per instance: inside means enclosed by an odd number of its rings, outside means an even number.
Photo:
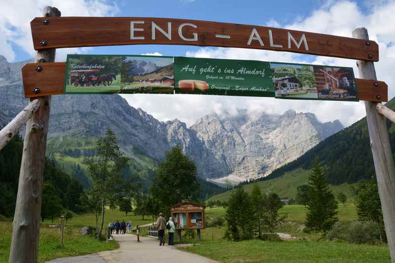
[[[326,232],[329,240],[344,240],[354,244],[375,244],[380,241],[380,226],[376,222],[337,222],[332,229]]]

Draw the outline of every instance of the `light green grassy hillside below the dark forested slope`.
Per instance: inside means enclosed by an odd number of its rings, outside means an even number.
[[[262,182],[255,182],[253,184],[244,185],[243,188],[250,192],[254,185],[258,185],[263,192],[275,192],[280,197],[288,197],[288,198],[295,198],[296,197],[296,188],[301,185],[306,185],[309,180],[310,170],[304,169],[296,169],[291,172],[286,172],[284,175],[279,176],[277,178],[262,181]],[[334,193],[335,196],[339,192],[343,192],[346,194],[348,200],[352,199],[352,194],[349,187],[352,184],[344,183],[340,186],[330,186],[330,189]],[[207,201],[211,200],[221,200],[227,201],[231,195],[232,190],[214,195],[207,199]]]

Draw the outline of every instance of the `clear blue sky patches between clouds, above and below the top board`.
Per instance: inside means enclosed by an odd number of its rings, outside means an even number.
[[[294,23],[311,15],[323,4],[323,0],[118,0],[116,16],[125,17],[164,17],[206,20],[216,22],[238,23],[247,25],[267,25],[271,21],[279,23],[279,27]],[[111,3],[109,1],[109,3]],[[366,9],[364,1],[357,1],[362,10]],[[17,44],[12,44],[16,51],[14,61],[31,58],[31,54],[24,51]],[[159,52],[164,56],[185,56],[187,51],[197,51],[196,46],[173,45],[127,45],[93,47],[89,54],[130,54]],[[305,56],[313,61],[314,56]]]

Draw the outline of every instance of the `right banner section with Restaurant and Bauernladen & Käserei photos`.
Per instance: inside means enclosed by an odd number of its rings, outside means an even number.
[[[358,101],[353,68],[270,64],[276,98]]]

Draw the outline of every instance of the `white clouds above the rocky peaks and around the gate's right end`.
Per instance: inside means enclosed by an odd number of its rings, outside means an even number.
[[[395,83],[393,68],[395,64],[395,1],[371,1],[369,13],[363,13],[354,1],[323,0],[322,7],[310,16],[297,18],[294,23],[281,25],[281,21],[271,20],[267,25],[307,32],[352,37],[358,27],[366,27],[370,39],[379,43],[380,61],[375,63],[377,77],[389,85],[389,97],[395,96],[391,84]],[[261,24],[265,24],[263,21]],[[244,60],[262,60],[278,62],[306,63],[307,56],[288,52],[241,48],[200,48],[196,52],[187,52],[189,57],[226,58]],[[310,56],[313,64],[353,67],[356,76],[358,70],[355,60]],[[363,102],[330,102],[279,100],[273,98],[250,98],[205,95],[124,95],[132,106],[140,107],[160,120],[178,118],[188,125],[197,118],[210,112],[219,114],[234,113],[238,109],[248,109],[250,113],[283,113],[289,109],[297,112],[315,113],[321,121],[340,119],[344,125],[350,125],[365,116]]]

